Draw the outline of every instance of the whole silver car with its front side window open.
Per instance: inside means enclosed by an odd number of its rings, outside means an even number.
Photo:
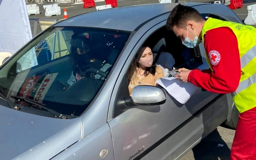
[[[219,125],[234,129],[238,112],[230,94],[202,89],[181,104],[160,85],[145,85],[129,96],[126,74],[144,42],[166,77],[165,66],[209,68],[202,43],[186,48],[166,30],[175,5],[78,15],[49,27],[5,61],[0,67],[1,160],[174,160]],[[185,5],[204,18],[242,23],[225,5]],[[74,54],[88,44],[84,38],[90,41],[90,57]],[[86,64],[80,79],[79,64]]]

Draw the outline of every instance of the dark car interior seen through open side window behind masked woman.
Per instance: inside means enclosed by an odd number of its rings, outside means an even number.
[[[162,68],[165,77],[171,76],[168,73],[170,71],[168,68],[194,69],[202,64],[199,47],[184,46],[173,31],[167,30],[166,27],[157,30],[144,43],[151,48],[154,61],[157,66]]]

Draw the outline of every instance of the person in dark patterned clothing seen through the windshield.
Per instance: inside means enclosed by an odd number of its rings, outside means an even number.
[[[79,37],[71,42],[70,54],[74,70],[67,81],[69,86],[85,77],[104,79],[104,77],[101,77],[96,73],[90,73],[90,75],[86,75],[87,69],[94,68],[98,69],[99,71],[106,72],[111,66],[110,64],[106,63],[106,61],[94,58],[95,53],[91,50],[91,46],[91,41],[86,37]]]

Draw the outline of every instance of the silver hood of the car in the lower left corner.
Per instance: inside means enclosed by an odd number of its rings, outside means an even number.
[[[57,119],[0,105],[1,160],[50,159],[80,140],[81,120]]]

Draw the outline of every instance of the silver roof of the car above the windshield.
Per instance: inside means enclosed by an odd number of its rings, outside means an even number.
[[[195,6],[205,3],[184,3]],[[134,31],[144,22],[159,15],[167,14],[177,3],[143,4],[117,7],[89,12],[63,20],[54,26],[57,27],[93,27],[112,30]]]

